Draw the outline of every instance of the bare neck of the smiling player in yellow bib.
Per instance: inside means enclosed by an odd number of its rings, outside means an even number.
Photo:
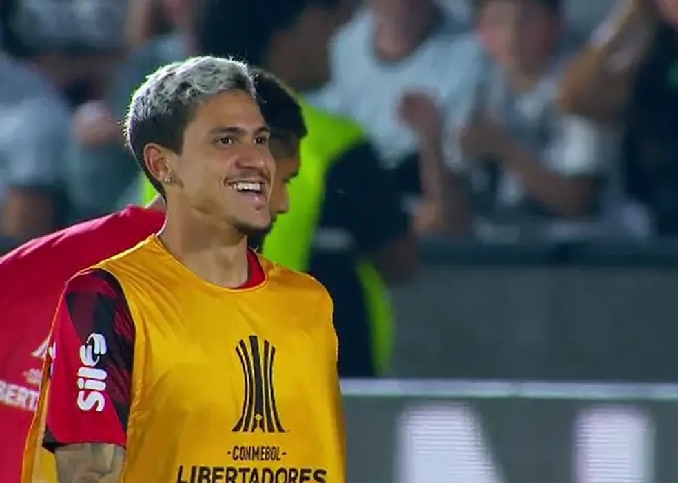
[[[160,233],[165,248],[199,278],[236,288],[247,281],[247,237],[204,213],[167,209]]]

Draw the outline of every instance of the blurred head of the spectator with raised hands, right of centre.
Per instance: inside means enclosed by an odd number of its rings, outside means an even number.
[[[489,56],[513,74],[538,74],[561,32],[560,0],[475,0],[477,32]]]

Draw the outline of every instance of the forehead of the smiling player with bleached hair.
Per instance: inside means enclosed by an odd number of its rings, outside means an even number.
[[[191,122],[193,129],[203,131],[214,127],[258,129],[264,125],[255,100],[247,92],[222,92],[198,105]]]

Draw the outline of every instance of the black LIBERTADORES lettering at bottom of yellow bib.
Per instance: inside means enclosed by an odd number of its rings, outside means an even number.
[[[176,483],[327,483],[327,470],[286,466],[179,466]]]

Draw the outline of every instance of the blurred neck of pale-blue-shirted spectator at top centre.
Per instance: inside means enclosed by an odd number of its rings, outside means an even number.
[[[407,18],[375,15],[374,50],[384,61],[400,61],[427,39],[437,19],[437,7],[431,3]]]

